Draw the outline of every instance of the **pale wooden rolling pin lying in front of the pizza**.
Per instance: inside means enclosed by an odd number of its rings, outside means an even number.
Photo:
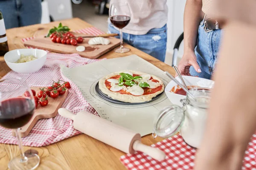
[[[135,151],[141,151],[158,161],[162,161],[166,158],[166,155],[162,150],[142,144],[140,134],[125,127],[116,125],[113,122],[102,119],[86,111],[80,111],[74,115],[67,109],[60,108],[58,113],[61,116],[72,119],[76,130],[125,153],[133,154]]]

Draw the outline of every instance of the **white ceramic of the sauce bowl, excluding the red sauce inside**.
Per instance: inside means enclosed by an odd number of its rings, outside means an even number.
[[[182,76],[186,85],[196,85],[200,86],[202,88],[213,88],[214,81],[209,80],[209,79],[203,79],[199,77],[192,77],[192,76]],[[179,77],[175,77],[181,84],[181,80]],[[168,83],[168,85],[165,88],[165,93],[168,97],[168,99],[172,102],[173,105],[178,105],[182,107],[182,103],[180,102],[181,99],[185,99],[186,96],[180,95],[180,94],[175,94],[170,92],[174,86],[177,84],[172,80],[171,82]]]

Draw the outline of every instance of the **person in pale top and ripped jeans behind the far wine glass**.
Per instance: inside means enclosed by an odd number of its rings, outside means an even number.
[[[132,14],[130,23],[123,28],[124,42],[164,62],[168,14],[166,0],[111,0],[110,6],[119,2],[127,3]],[[119,34],[119,29],[110,20],[108,32]]]

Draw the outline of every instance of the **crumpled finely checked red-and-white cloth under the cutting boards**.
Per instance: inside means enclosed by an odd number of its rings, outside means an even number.
[[[76,32],[93,35],[104,33],[95,27],[77,30]],[[24,38],[22,40],[26,41],[32,38],[33,37]],[[73,82],[63,77],[60,71],[60,65],[73,68],[96,61],[99,61],[99,59],[87,59],[79,56],[79,54],[48,53],[45,65],[40,69],[40,71],[32,74],[18,74],[14,71],[10,71],[3,78],[21,77],[26,80],[29,86],[38,87],[47,87],[52,85],[52,80],[56,81],[58,79],[62,79],[64,81],[69,81],[71,85],[71,88],[69,89],[70,93],[63,103],[62,108],[67,108],[73,113],[88,111],[98,115],[94,108],[84,99],[79,88],[77,88]],[[25,146],[40,147],[61,141],[80,133],[81,132],[74,129],[73,121],[58,114],[54,118],[38,120],[29,135],[23,137],[22,141]],[[17,144],[16,137],[12,136],[12,130],[0,127],[0,143]]]

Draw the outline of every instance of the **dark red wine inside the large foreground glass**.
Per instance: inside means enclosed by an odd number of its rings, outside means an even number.
[[[31,99],[17,97],[4,100],[0,105],[0,125],[8,129],[22,127],[32,118],[34,109]]]

